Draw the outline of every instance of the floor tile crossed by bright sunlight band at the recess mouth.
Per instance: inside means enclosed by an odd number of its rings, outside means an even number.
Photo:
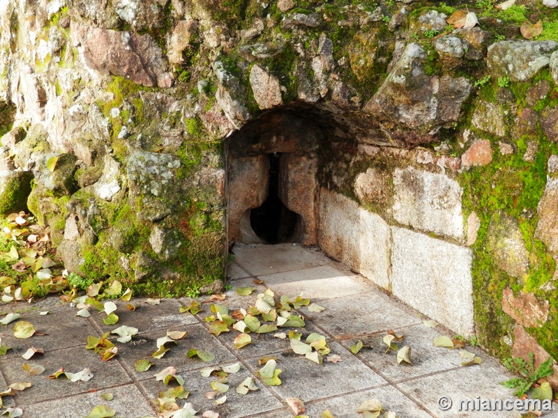
[[[259,276],[259,279],[264,280],[267,286],[282,295],[294,298],[303,293],[304,297],[309,297],[310,300],[334,299],[369,290],[329,265],[267,274]]]

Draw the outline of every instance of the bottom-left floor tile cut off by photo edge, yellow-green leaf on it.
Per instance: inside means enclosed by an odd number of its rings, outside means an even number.
[[[105,401],[100,397],[105,393],[111,393],[114,396],[112,401]],[[98,405],[107,405],[112,408],[116,411],[116,417],[155,416],[155,412],[137,387],[126,385],[25,406],[23,407],[23,418],[82,418],[89,415],[89,412]]]

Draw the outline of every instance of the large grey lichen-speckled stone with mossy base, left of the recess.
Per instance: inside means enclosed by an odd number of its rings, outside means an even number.
[[[140,219],[157,221],[176,210],[181,201],[181,183],[176,170],[178,157],[170,154],[139,152],[128,160],[130,197]]]

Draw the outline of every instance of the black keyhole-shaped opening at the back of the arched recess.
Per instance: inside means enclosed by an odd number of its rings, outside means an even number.
[[[269,194],[262,206],[250,212],[250,225],[259,238],[269,244],[287,242],[292,237],[299,215],[279,199],[280,153],[270,154]]]

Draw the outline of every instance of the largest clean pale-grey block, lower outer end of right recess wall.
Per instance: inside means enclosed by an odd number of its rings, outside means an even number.
[[[472,251],[391,227],[393,295],[449,329],[474,332]]]

